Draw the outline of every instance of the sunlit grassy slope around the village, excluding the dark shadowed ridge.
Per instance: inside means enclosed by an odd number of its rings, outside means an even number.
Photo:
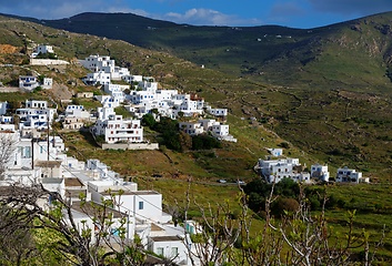
[[[305,152],[292,146],[285,153],[300,156],[301,162],[305,162],[308,165],[319,160],[320,162],[328,162],[333,170],[345,163],[352,165],[354,162],[355,167],[370,171],[369,173],[372,175],[385,178],[390,176],[389,161],[392,153],[392,147],[390,147],[392,139],[389,139],[389,132],[390,121],[392,120],[388,110],[390,110],[391,100],[388,94],[380,94],[381,92],[388,92],[388,88],[382,86],[380,79],[376,79],[374,83],[379,84],[382,90],[375,88],[374,91],[369,93],[349,90],[350,88],[344,86],[345,82],[351,84],[351,80],[355,81],[356,83],[353,84],[361,89],[359,91],[365,90],[363,85],[365,82],[350,78],[346,74],[349,73],[346,71],[351,71],[350,64],[336,64],[341,61],[339,57],[330,55],[328,52],[324,52],[324,55],[318,62],[323,63],[325,75],[332,76],[332,74],[335,74],[334,79],[322,78],[323,80],[333,80],[329,83],[331,84],[330,89],[333,90],[325,90],[324,85],[314,85],[319,84],[319,80],[316,80],[321,79],[319,74],[312,75],[314,81],[309,82],[309,84],[265,85],[249,79],[232,78],[209,69],[197,68],[190,62],[179,60],[167,53],[139,49],[121,41],[108,41],[102,38],[59,32],[27,22],[16,24],[7,22],[1,24],[0,29],[3,30],[4,39],[1,40],[2,43],[11,43],[23,48],[26,38],[14,32],[24,32],[27,38],[36,42],[54,44],[59,54],[68,59],[73,59],[76,55],[81,58],[96,52],[101,54],[110,52],[123,64],[132,62],[134,73],[154,75],[168,86],[181,88],[184,91],[198,91],[214,105],[231,110],[229,123],[232,134],[239,139],[239,144],[227,144],[222,150],[217,150],[214,153],[180,154],[169,151],[168,156],[171,161],[163,153],[157,151],[103,152],[94,146],[88,135],[64,134],[66,143],[70,146],[70,154],[80,160],[89,157],[102,160],[124,176],[135,177],[141,188],[153,188],[162,192],[168,205],[174,205],[175,202],[183,198],[187,183],[181,181],[189,177],[199,182],[212,183],[221,177],[228,180],[235,180],[237,177],[250,180],[254,177],[252,166],[258,157],[267,154],[265,147],[277,146],[284,141],[270,130],[278,131],[283,137],[302,147]],[[351,31],[350,33],[356,34]],[[329,49],[332,53],[338,47],[330,47]],[[351,60],[353,55],[344,57],[346,58],[343,61],[346,61]],[[11,59],[6,57],[4,60],[4,62],[8,62],[7,60]],[[315,64],[315,62],[310,62],[305,68],[312,69],[312,64]],[[342,68],[342,70],[338,73],[333,71],[334,68]],[[368,65],[363,68],[368,68]],[[309,69],[305,69],[305,71],[310,71]],[[316,70],[316,68],[313,69],[313,71]],[[380,75],[383,71],[383,66],[370,69],[374,73],[369,74],[369,76]],[[78,66],[68,69],[68,71],[71,70],[69,76],[67,74],[57,76],[58,81],[66,82],[67,79],[80,78],[74,75],[83,74],[78,70]],[[3,71],[7,73],[7,70]],[[48,74],[52,72],[50,69],[44,70],[44,68],[40,71]],[[305,71],[301,72],[304,80],[310,79],[310,74]],[[351,75],[355,73],[352,70]],[[349,76],[350,79],[341,82],[342,76]],[[320,81],[320,83],[322,82]],[[338,85],[340,86],[338,88]],[[312,89],[311,92],[309,88]],[[74,89],[86,90],[86,88],[78,86]],[[13,96],[14,101],[23,101],[26,96],[36,98],[36,95],[27,94],[14,94]],[[1,94],[0,98],[1,100],[9,100],[10,95]],[[371,112],[369,106],[372,108]],[[269,123],[251,123],[248,120],[249,116],[264,117]],[[242,120],[241,117],[245,119]],[[340,151],[334,151],[335,147]],[[308,154],[315,155],[316,158]],[[163,173],[165,177],[171,177],[172,174],[179,175],[177,181],[149,178],[155,172]],[[218,203],[222,200],[229,200],[232,204],[235,204],[234,198],[238,188],[235,186],[195,183],[192,185],[192,196],[201,204]],[[373,241],[380,238],[380,222],[385,223],[388,229],[392,226],[388,213],[380,214],[376,212],[378,208],[392,208],[388,201],[390,197],[389,186],[335,186],[330,187],[329,192],[351,204],[369,204],[373,211],[358,214],[356,228],[358,231],[361,231],[361,228],[370,229]],[[193,211],[193,214],[197,215],[197,212]],[[330,212],[328,215],[334,228],[344,227],[345,215],[342,209]],[[390,239],[389,236],[390,231],[388,231],[388,239]],[[389,257],[391,257],[388,252],[391,243],[388,242],[386,247],[382,250]]]

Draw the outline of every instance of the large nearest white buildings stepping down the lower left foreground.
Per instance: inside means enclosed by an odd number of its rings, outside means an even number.
[[[145,249],[172,258],[178,265],[191,264],[187,248],[191,241],[184,228],[193,228],[195,224],[191,221],[185,222],[185,226],[174,224],[172,216],[162,211],[160,193],[139,191],[137,183],[124,181],[98,160],[80,162],[68,156],[59,136],[49,136],[48,140],[47,135],[39,132],[26,134],[23,130],[16,130],[8,124],[7,129],[0,131],[0,149],[7,149],[6,143],[11,144],[9,160],[1,167],[4,172],[0,175],[0,186],[42,184],[48,191],[57,192],[64,201],[72,203],[74,223],[79,228],[89,226],[92,239],[98,233],[97,224],[86,207],[81,207],[80,194],[86,195],[88,204],[102,204],[104,198],[114,196],[119,204],[110,211],[114,214],[109,228],[111,242],[118,241],[119,221],[125,217],[127,238],[132,241],[138,235]],[[108,193],[109,190],[111,193]],[[115,194],[120,191],[123,192],[121,196]],[[43,208],[50,208],[51,198],[40,204]]]

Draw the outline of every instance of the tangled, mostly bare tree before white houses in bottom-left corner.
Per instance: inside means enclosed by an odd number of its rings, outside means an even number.
[[[61,262],[86,266],[140,265],[145,255],[138,243],[129,239],[128,214],[114,211],[118,203],[112,195],[101,204],[87,202],[81,196],[78,208],[40,185],[10,186],[7,196],[0,200],[0,206],[11,209],[2,217],[9,223],[0,227],[0,233],[10,235],[10,232],[27,229],[37,238],[33,250],[44,250],[46,257],[56,257],[59,265]],[[86,218],[77,219],[78,212]]]

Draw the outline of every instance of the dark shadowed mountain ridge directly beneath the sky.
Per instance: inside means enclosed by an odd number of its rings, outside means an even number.
[[[123,40],[145,49],[169,52],[230,74],[282,84],[279,80],[285,80],[288,75],[281,73],[275,76],[274,69],[283,68],[282,63],[277,61],[284,62],[289,59],[289,63],[296,68],[288,72],[289,76],[291,73],[298,74],[298,68],[305,66],[316,57],[320,58],[318,50],[321,45],[326,45],[326,49],[330,47],[326,41],[336,41],[334,39],[339,39],[341,34],[350,35],[348,31],[358,32],[361,29],[359,24],[363,21],[375,21],[375,31],[388,32],[384,24],[389,18],[391,12],[313,29],[281,25],[199,27],[152,20],[131,13],[97,12],[41,22],[56,29]],[[388,68],[385,65],[385,72]],[[294,80],[295,78],[291,78],[289,82]]]

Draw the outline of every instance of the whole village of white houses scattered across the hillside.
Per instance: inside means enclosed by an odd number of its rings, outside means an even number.
[[[53,53],[50,45],[39,45],[32,59],[40,54]],[[39,59],[34,64],[56,64],[57,59]],[[46,61],[49,60],[49,61]],[[64,62],[59,62],[64,63]],[[67,62],[66,62],[67,63]],[[67,147],[60,136],[52,136],[51,124],[61,122],[64,130],[81,130],[92,124],[90,132],[96,137],[103,137],[102,149],[158,150],[158,143],[150,143],[143,137],[141,119],[152,114],[157,121],[161,117],[180,120],[179,130],[189,135],[210,134],[219,141],[237,142],[227,124],[228,110],[212,108],[197,94],[180,93],[177,89],[162,89],[152,76],[132,75],[127,68],[119,68],[110,57],[90,55],[80,60],[89,69],[83,82],[89,85],[101,85],[104,94],[84,93],[82,96],[94,98],[102,106],[94,112],[83,105],[68,104],[63,113],[58,113],[57,104],[50,101],[26,100],[23,108],[9,113],[8,103],[0,103],[0,140],[1,145],[9,143],[7,160],[2,161],[1,186],[32,186],[42,184],[58,193],[64,201],[71,202],[72,212],[79,226],[82,221],[93,226],[93,219],[80,209],[82,193],[86,198],[102,204],[113,193],[122,193],[121,206],[117,212],[127,217],[127,235],[133,239],[138,235],[143,247],[157,255],[172,258],[179,265],[191,265],[190,252],[195,244],[190,234],[200,228],[193,221],[178,225],[170,214],[162,209],[162,195],[155,191],[139,191],[138,184],[124,180],[109,165],[96,158],[80,162],[67,155]],[[118,83],[112,83],[118,82]],[[40,80],[37,75],[19,78],[19,88],[32,91],[37,88],[50,90],[53,81]],[[127,83],[127,84],[124,84]],[[114,109],[124,106],[133,119],[124,119]],[[18,120],[16,120],[18,117]],[[331,181],[328,165],[314,164],[310,173],[300,164],[299,158],[283,156],[283,150],[270,149],[274,160],[259,158],[255,170],[269,183],[283,178],[312,184]],[[369,182],[355,170],[339,168],[335,182]],[[46,209],[51,208],[50,198],[42,203]],[[115,238],[115,225],[111,228]],[[94,238],[94,232],[91,232]],[[192,244],[194,244],[192,246]]]

